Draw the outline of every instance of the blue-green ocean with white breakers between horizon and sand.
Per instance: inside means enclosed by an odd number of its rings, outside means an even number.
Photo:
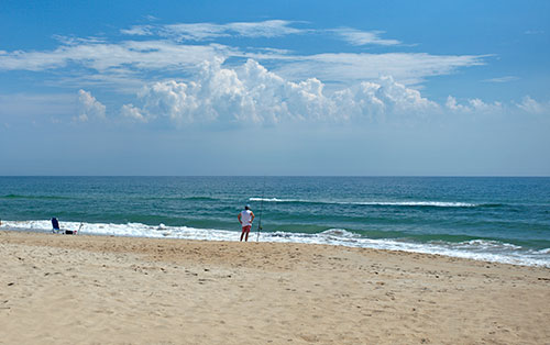
[[[550,267],[550,178],[0,177],[0,230],[239,241],[245,204],[249,241]]]

